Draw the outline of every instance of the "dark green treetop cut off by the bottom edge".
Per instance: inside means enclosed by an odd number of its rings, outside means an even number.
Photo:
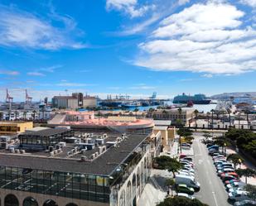
[[[157,206],[208,206],[203,204],[198,199],[188,199],[186,197],[175,196],[173,198],[166,198]]]

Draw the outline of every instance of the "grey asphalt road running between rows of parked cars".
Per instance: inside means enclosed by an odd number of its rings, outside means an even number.
[[[208,155],[206,146],[200,142],[201,137],[195,136],[193,143],[194,164],[196,168],[196,180],[200,183],[200,191],[195,194],[205,204],[210,206],[228,206],[228,194],[225,186],[216,174],[215,165]]]

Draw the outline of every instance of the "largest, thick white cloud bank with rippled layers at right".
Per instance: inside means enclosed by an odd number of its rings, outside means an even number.
[[[256,70],[256,31],[225,3],[194,4],[164,19],[135,65],[154,70],[241,74]]]

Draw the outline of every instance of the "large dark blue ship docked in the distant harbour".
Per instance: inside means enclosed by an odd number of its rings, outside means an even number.
[[[178,95],[173,98],[172,103],[194,103],[194,104],[209,104],[210,99],[206,98],[205,94],[195,94],[194,96],[186,95],[182,93],[182,95]]]

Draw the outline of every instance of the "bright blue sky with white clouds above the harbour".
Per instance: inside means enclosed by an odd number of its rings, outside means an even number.
[[[0,101],[255,91],[256,0],[0,0]],[[67,89],[67,92],[65,92]]]

